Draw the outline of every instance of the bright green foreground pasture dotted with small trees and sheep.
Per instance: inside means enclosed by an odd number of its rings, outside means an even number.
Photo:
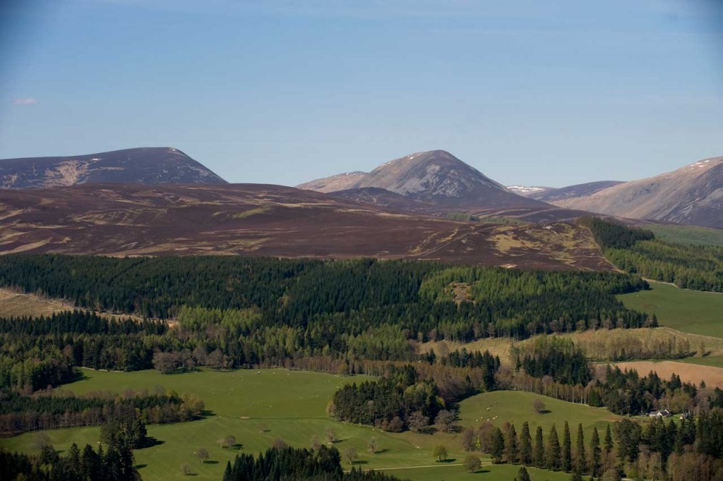
[[[343,384],[363,381],[365,376],[331,376],[283,369],[199,371],[176,375],[162,375],[156,371],[118,373],[83,370],[83,373],[85,379],[63,389],[77,394],[91,391],[122,393],[127,388],[152,390],[155,386],[163,386],[179,394],[198,394],[213,413],[190,423],[148,426],[148,435],[160,444],[134,451],[140,474],[146,481],[183,479],[183,464],[192,468],[196,475],[194,480],[220,480],[226,462],[234,458],[236,451],[220,448],[216,440],[229,434],[236,437],[237,443],[243,444],[244,452],[256,453],[267,449],[276,438],[292,446],[308,447],[312,436],[324,441],[327,428],[335,430],[340,440],[335,446],[342,453],[347,446],[356,448],[360,466],[365,469],[393,468],[390,474],[414,481],[474,480],[476,477],[511,480],[519,469],[517,466],[486,465],[482,472],[474,475],[465,472],[458,465],[466,456],[460,448],[458,434],[385,433],[369,426],[338,423],[327,417],[325,407],[333,392]],[[486,412],[484,407],[490,402],[504,406],[504,409],[500,408],[500,421],[503,415],[505,420],[514,421],[518,430],[523,420],[529,420],[531,426],[540,423],[546,435],[549,425],[555,422],[560,426],[562,436],[565,418],[574,425],[582,422],[586,430],[591,430],[592,425],[604,426],[606,420],[615,418],[604,410],[549,398],[543,399],[551,412],[534,415],[531,411],[534,397],[535,394],[516,391],[480,394],[461,403],[460,424],[479,426],[481,423],[477,423],[476,419]],[[47,433],[56,449],[62,451],[73,442],[81,446],[85,443],[95,445],[100,429],[69,428]],[[377,445],[382,452],[367,453],[367,441],[372,436],[377,437]],[[0,447],[33,452],[33,438],[33,433],[26,433],[0,439]],[[435,463],[432,447],[437,444],[444,444],[454,461]],[[210,462],[206,464],[201,464],[194,457],[194,451],[202,447],[210,453]],[[489,464],[487,456],[482,457]],[[564,473],[537,470],[531,470],[531,473],[535,473],[533,478],[536,481],[561,481],[570,477]]]

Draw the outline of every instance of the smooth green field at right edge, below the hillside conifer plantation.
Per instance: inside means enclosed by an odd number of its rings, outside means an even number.
[[[678,289],[650,282],[651,290],[618,295],[625,307],[656,314],[658,322],[678,331],[723,338],[723,294]]]

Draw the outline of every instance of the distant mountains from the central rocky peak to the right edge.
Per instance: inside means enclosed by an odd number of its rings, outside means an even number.
[[[555,222],[594,212],[723,228],[723,157],[641,181],[504,187],[449,152],[432,150],[390,160],[370,173],[333,175],[297,187],[434,215],[453,209]]]

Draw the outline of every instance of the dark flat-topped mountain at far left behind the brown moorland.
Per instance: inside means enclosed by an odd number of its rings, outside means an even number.
[[[172,147],[142,147],[69,157],[0,160],[0,188],[43,188],[78,183],[226,183]]]

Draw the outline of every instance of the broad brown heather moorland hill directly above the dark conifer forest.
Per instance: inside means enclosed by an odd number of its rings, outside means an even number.
[[[7,189],[0,219],[0,254],[367,256],[612,269],[589,230],[576,225],[448,220],[258,184]]]

